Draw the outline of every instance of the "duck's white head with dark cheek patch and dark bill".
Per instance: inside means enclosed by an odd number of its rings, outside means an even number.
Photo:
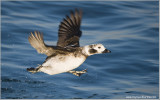
[[[94,54],[111,53],[111,51],[106,49],[102,44],[92,44],[84,46],[82,51],[83,54],[87,56],[91,56]]]

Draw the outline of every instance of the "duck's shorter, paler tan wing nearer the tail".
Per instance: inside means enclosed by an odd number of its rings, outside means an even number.
[[[43,34],[40,32],[34,32],[30,34],[28,37],[29,43],[33,48],[37,50],[38,53],[46,54],[47,56],[51,56],[56,51],[53,47],[47,46],[43,40]]]

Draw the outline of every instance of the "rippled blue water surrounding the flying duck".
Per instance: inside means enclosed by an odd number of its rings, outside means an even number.
[[[1,98],[125,99],[159,98],[158,1],[2,1]],[[56,45],[58,26],[70,10],[83,10],[81,46],[102,43],[112,51],[88,59],[69,73],[31,74],[45,60],[28,42],[30,32]]]

